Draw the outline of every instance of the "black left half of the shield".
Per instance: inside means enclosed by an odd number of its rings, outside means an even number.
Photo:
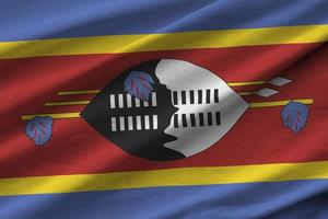
[[[81,117],[93,126],[101,135],[114,142],[128,153],[159,161],[168,161],[185,158],[184,154],[163,147],[164,143],[176,140],[176,137],[164,134],[171,123],[171,117],[177,108],[172,104],[171,91],[165,84],[161,84],[155,76],[155,69],[160,60],[152,60],[136,66],[110,81],[82,111]],[[157,95],[157,106],[110,108],[110,94],[125,94],[124,81],[132,71],[143,71],[154,80],[154,92]],[[117,103],[116,103],[117,104]],[[142,106],[142,105],[141,105]],[[157,129],[112,131],[110,117],[157,115]],[[126,125],[127,129],[127,125]]]

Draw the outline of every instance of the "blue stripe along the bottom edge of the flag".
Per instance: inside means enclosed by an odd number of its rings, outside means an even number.
[[[328,218],[328,181],[157,187],[0,198],[1,219]]]

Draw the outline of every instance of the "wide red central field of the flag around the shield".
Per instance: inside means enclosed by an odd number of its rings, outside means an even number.
[[[121,71],[140,62],[183,59],[227,82],[293,80],[269,99],[313,97],[306,128],[298,135],[283,127],[282,107],[247,110],[227,135],[188,159],[155,162],[130,155],[107,141],[81,118],[55,119],[52,137],[38,148],[24,132],[23,114],[80,112],[83,106],[46,107],[49,101],[91,100],[58,96],[57,91],[102,89]],[[328,160],[328,45],[300,44],[225,49],[190,49],[119,55],[84,55],[0,60],[0,177],[141,171],[185,166],[222,166]],[[256,91],[262,87],[234,88]]]

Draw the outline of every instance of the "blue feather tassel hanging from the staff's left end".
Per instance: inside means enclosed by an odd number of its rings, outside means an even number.
[[[52,118],[49,116],[36,116],[25,126],[26,136],[34,140],[36,146],[44,146],[49,141],[52,132]]]

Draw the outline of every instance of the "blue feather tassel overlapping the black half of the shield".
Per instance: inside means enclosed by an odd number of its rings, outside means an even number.
[[[125,80],[125,91],[142,101],[149,100],[150,93],[154,90],[154,80],[149,73],[131,71]]]

